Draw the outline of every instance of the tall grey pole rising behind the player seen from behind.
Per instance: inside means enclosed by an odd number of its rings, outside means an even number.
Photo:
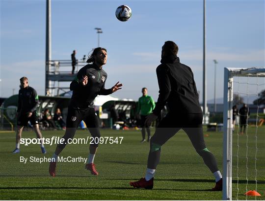
[[[203,0],[203,114],[204,124],[207,117],[207,92],[206,92],[206,3]]]

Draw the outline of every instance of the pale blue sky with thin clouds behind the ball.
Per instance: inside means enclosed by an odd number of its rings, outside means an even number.
[[[115,17],[122,4],[132,9],[127,22]],[[87,55],[97,47],[94,28],[100,27],[100,46],[108,53],[106,88],[120,81],[123,89],[114,95],[137,100],[146,87],[157,100],[161,46],[174,41],[202,101],[203,0],[52,0],[51,7],[52,60],[71,59],[74,49],[77,59]],[[265,67],[265,1],[207,0],[206,16],[207,99],[213,99],[215,59],[216,97],[222,100],[224,67]],[[17,94],[23,76],[44,95],[45,29],[46,1],[0,0],[0,97]]]

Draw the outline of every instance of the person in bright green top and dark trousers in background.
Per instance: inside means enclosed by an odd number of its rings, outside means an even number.
[[[145,129],[147,131],[147,141],[149,142],[151,136],[150,136],[150,127],[145,125],[146,117],[152,113],[152,111],[155,109],[155,101],[154,99],[147,95],[147,88],[142,89],[142,96],[138,100],[138,107],[137,107],[137,114],[140,113],[141,115],[141,127],[142,127],[142,141],[141,143],[145,142]]]

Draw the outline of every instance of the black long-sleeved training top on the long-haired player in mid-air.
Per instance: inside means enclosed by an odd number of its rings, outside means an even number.
[[[82,78],[85,75],[88,78],[88,82],[85,86],[82,86]],[[106,71],[94,64],[82,67],[70,84],[70,90],[73,91],[70,106],[79,109],[93,108],[97,95],[112,93],[112,89],[105,89],[106,78]]]

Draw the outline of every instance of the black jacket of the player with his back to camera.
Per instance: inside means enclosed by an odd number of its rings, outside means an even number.
[[[159,115],[167,103],[169,112],[202,113],[199,95],[190,67],[180,63],[178,57],[162,59],[157,67],[159,98],[154,114]]]

